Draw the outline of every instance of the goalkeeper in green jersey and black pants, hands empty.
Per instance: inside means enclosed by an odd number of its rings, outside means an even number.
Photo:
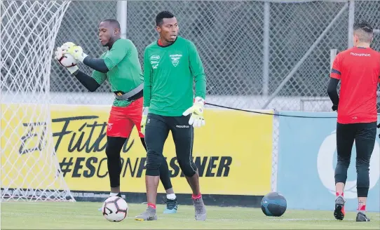
[[[194,127],[205,125],[206,79],[201,58],[193,42],[177,36],[178,24],[172,13],[156,16],[158,41],[144,52],[144,110],[142,133],[147,144],[145,183],[147,210],[136,220],[156,220],[156,196],[161,175],[163,146],[169,131],[175,142],[177,161],[192,190],[195,219],[206,219],[199,174],[192,159]],[[195,81],[195,98],[193,84]]]

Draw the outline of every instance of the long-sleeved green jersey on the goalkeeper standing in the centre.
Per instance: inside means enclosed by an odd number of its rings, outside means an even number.
[[[205,99],[206,78],[193,42],[177,36],[170,46],[151,43],[144,52],[144,107],[161,116],[182,116],[195,97]]]

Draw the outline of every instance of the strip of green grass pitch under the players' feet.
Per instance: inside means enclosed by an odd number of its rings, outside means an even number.
[[[162,214],[158,220],[137,222],[135,215],[146,205],[129,204],[123,222],[108,222],[97,210],[101,203],[1,203],[1,229],[380,229],[379,213],[368,213],[371,222],[355,222],[355,212],[343,221],[334,219],[332,211],[287,210],[282,217],[266,217],[257,208],[220,208],[208,206],[208,219],[196,222],[194,207],[179,205],[174,215]]]

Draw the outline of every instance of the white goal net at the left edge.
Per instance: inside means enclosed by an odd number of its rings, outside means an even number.
[[[70,1],[1,1],[1,201],[74,201],[55,155],[50,65]]]

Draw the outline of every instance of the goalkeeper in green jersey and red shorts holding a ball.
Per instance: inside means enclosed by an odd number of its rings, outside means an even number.
[[[144,148],[144,135],[140,130],[143,104],[143,75],[138,58],[137,48],[129,39],[122,39],[120,24],[117,20],[107,19],[100,22],[99,41],[108,48],[100,58],[92,58],[83,53],[81,46],[74,43],[65,43],[57,49],[55,59],[65,53],[72,55],[76,60],[83,62],[94,69],[93,75],[88,76],[78,67],[67,68],[83,86],[91,92],[97,90],[108,79],[111,90],[115,94],[114,104],[111,107],[107,125],[107,166],[111,186],[110,196],[121,196],[121,149],[130,136],[133,126],[137,127]],[[177,212],[177,198],[172,189],[168,163],[160,158],[161,182],[167,194],[167,208],[164,213]]]

